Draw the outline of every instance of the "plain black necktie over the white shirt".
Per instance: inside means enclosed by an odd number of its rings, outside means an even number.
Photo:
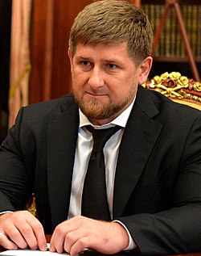
[[[87,128],[92,132],[93,148],[84,179],[81,213],[92,219],[109,221],[111,217],[106,192],[103,148],[109,138],[121,127],[94,129],[88,126]]]

